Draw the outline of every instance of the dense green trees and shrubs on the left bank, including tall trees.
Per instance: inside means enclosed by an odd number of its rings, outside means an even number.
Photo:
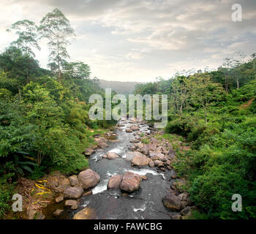
[[[95,144],[93,135],[111,124],[89,119],[90,95],[104,92],[89,65],[64,60],[74,31],[62,12],[48,13],[40,26],[18,21],[11,30],[18,39],[0,54],[0,218],[19,176],[78,173],[88,167],[83,152]],[[39,36],[49,40],[50,70],[34,59]]]

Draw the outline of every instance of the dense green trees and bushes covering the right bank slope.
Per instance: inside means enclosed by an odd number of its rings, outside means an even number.
[[[173,167],[188,176],[188,192],[200,208],[195,218],[256,217],[256,59],[233,61],[225,59],[217,71],[183,72],[135,89],[136,94],[168,94],[162,137],[181,135],[192,147],[178,154]],[[234,194],[242,197],[241,212],[231,209]]]

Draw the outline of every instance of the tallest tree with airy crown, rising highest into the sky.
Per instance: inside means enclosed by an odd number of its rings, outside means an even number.
[[[56,64],[59,80],[61,79],[61,64],[69,58],[67,45],[70,44],[67,37],[75,36],[75,31],[71,28],[69,20],[59,10],[54,9],[40,21],[38,32],[41,38],[48,39],[48,49],[50,50],[49,60]]]

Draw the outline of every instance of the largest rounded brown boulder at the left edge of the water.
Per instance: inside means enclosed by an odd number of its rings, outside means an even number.
[[[78,174],[78,181],[80,182],[83,189],[94,188],[94,186],[99,184],[99,180],[99,174],[91,169],[83,170]]]

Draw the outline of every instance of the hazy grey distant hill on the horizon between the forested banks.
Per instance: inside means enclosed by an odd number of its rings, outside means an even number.
[[[99,86],[101,88],[112,88],[118,94],[133,94],[135,85],[138,83],[139,82],[99,80]]]

